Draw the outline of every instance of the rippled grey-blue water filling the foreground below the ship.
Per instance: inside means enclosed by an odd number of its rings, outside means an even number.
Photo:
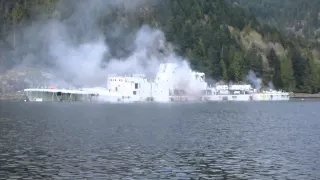
[[[320,178],[320,101],[0,108],[0,179]]]

